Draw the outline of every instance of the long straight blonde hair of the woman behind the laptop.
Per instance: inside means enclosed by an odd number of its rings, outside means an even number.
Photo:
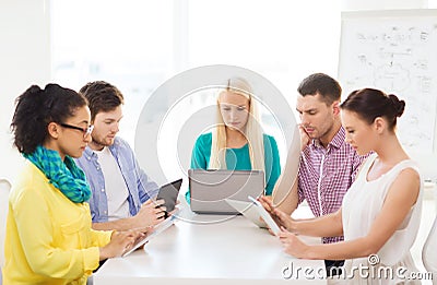
[[[264,142],[263,132],[260,124],[259,111],[253,99],[252,88],[249,83],[240,78],[229,79],[225,90],[220,92],[232,92],[249,99],[249,117],[246,123],[244,135],[249,144],[250,164],[253,170],[265,173],[264,165]],[[210,169],[226,169],[226,126],[220,112],[220,95],[216,108],[217,124],[212,131]]]

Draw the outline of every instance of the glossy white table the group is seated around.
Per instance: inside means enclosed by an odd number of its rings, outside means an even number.
[[[284,253],[280,240],[244,216],[196,215],[186,211],[174,226],[154,237],[144,250],[108,260],[94,285],[110,284],[283,284],[285,266],[299,271],[298,283],[326,284],[321,260],[298,260]],[[302,237],[307,242],[320,239]],[[291,271],[286,271],[290,274]],[[296,274],[292,277],[295,278]],[[308,280],[308,277],[315,277]],[[296,282],[296,281],[294,281]]]

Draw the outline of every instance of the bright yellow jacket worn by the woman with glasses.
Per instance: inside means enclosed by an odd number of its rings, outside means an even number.
[[[91,228],[88,203],[73,203],[26,162],[9,197],[3,285],[86,284],[111,231]]]

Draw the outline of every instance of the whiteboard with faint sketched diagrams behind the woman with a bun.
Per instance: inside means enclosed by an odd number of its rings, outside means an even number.
[[[376,87],[406,103],[403,146],[433,153],[437,104],[437,10],[343,12],[339,56],[343,99]]]

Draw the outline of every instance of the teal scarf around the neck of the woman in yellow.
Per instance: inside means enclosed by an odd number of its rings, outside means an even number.
[[[73,158],[66,155],[62,162],[57,151],[38,145],[35,152],[23,154],[42,170],[49,182],[58,188],[68,199],[74,203],[86,202],[91,198],[90,186],[85,174],[79,168]]]

